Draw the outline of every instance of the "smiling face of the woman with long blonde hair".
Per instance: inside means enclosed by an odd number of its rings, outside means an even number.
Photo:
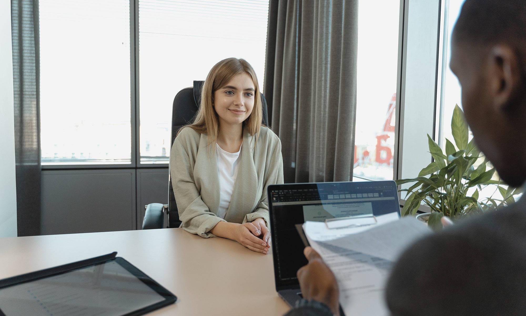
[[[243,123],[254,107],[254,82],[247,73],[232,77],[224,87],[214,92],[214,108],[219,126]]]

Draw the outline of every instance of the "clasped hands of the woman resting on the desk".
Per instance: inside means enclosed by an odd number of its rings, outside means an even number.
[[[238,225],[235,237],[238,243],[252,251],[267,254],[270,249],[270,232],[263,219]]]

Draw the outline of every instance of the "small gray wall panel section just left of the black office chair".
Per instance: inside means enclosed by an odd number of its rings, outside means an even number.
[[[168,167],[137,169],[137,229],[141,229],[144,206],[149,203],[168,204]]]

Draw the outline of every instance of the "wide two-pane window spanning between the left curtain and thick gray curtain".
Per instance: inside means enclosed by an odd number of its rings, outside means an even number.
[[[176,93],[224,58],[245,58],[262,90],[268,0],[131,4],[130,11],[128,0],[39,1],[43,165],[132,164],[136,105],[139,163],[167,163]],[[136,32],[138,56],[130,50]]]

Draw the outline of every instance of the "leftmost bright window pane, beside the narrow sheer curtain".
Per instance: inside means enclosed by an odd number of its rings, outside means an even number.
[[[42,164],[129,164],[129,1],[39,9]]]

